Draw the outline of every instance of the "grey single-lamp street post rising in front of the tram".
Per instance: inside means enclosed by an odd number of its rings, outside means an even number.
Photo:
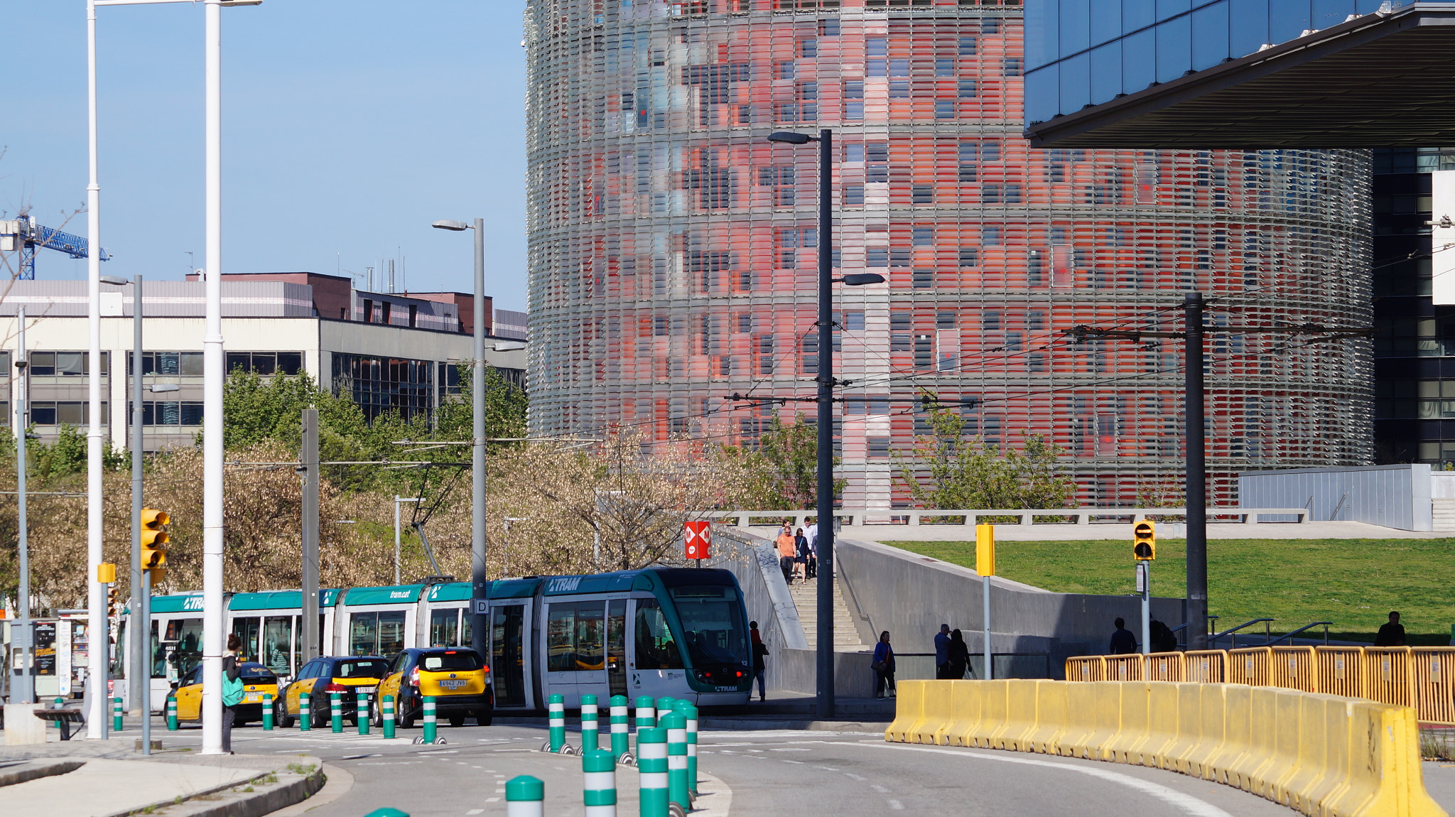
[[[487,654],[485,602],[489,584],[485,577],[485,220],[474,224],[441,220],[439,230],[474,230],[474,362],[470,365],[470,404],[473,413],[470,445],[470,647]]]

